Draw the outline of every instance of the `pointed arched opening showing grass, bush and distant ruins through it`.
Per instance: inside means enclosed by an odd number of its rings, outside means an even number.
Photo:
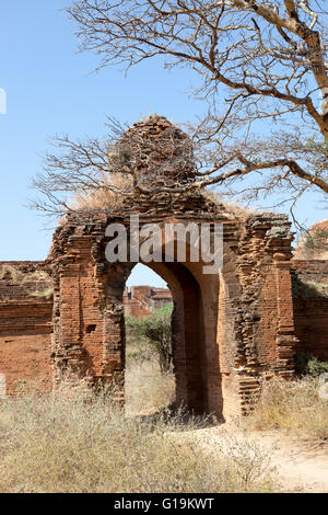
[[[124,293],[128,415],[145,415],[175,402],[172,362],[173,296],[167,283],[138,263]]]

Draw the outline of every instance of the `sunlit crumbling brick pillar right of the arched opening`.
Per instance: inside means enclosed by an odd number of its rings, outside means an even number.
[[[263,380],[293,375],[291,241],[286,217],[268,214],[226,241],[218,330],[225,417],[253,409]]]

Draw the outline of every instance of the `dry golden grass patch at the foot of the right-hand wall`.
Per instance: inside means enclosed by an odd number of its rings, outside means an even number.
[[[328,439],[328,401],[318,396],[318,380],[271,380],[247,420],[255,430],[291,430],[308,439]]]

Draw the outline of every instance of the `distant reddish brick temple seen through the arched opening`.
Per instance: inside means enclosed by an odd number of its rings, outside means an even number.
[[[155,309],[172,302],[172,294],[167,288],[154,288],[153,286],[125,288],[124,307],[126,317],[147,317]]]

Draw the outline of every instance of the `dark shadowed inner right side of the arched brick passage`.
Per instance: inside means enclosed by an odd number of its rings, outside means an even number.
[[[177,222],[174,218],[165,221]],[[172,238],[172,236],[169,237]],[[168,240],[171,241],[171,240]],[[165,231],[162,232],[162,248],[156,249],[157,255],[167,243]],[[184,331],[177,347],[177,400],[198,411],[216,413],[223,416],[222,375],[220,371],[220,348],[218,342],[219,291],[218,274],[204,274],[204,262],[190,260],[190,243],[186,243],[186,261],[162,263],[144,263],[162,277],[179,284],[180,297],[185,309],[179,310],[184,320]],[[177,255],[178,237],[174,239],[174,253]],[[230,249],[230,248],[229,248]],[[200,256],[201,258],[201,256]],[[173,290],[174,286],[169,286]],[[184,351],[184,354],[181,352]],[[188,364],[181,365],[181,364]],[[185,366],[185,371],[184,370]],[[184,379],[181,379],[184,378]],[[187,378],[187,379],[186,379]],[[189,379],[188,379],[189,378]]]

